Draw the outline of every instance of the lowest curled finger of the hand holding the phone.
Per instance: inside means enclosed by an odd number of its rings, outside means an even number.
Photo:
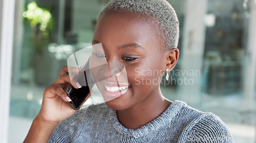
[[[60,98],[62,98],[62,100],[69,102],[66,98],[68,97],[68,95],[60,87],[55,87],[55,86],[47,87],[44,95],[46,95],[46,98],[54,98],[56,96],[59,96]]]

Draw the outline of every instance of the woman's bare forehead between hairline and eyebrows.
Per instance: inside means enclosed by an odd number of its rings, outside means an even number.
[[[148,42],[160,43],[158,26],[151,17],[131,13],[103,13],[97,22],[94,40],[119,44]]]

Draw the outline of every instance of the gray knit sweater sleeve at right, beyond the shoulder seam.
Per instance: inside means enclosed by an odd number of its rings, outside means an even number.
[[[182,133],[180,142],[232,143],[232,135],[221,119],[205,113],[191,122]]]

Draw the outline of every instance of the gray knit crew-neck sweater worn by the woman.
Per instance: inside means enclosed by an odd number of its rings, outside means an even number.
[[[60,122],[48,142],[233,142],[227,127],[210,112],[173,102],[158,118],[139,129],[127,129],[116,110],[91,105]]]

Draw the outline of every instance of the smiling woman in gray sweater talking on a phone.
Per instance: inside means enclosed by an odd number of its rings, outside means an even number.
[[[104,53],[94,56],[124,64],[129,87],[113,100],[76,112],[63,90],[70,83],[63,67],[45,90],[25,142],[232,142],[219,117],[162,95],[159,81],[177,63],[178,37],[177,15],[166,1],[111,1],[93,38]]]

